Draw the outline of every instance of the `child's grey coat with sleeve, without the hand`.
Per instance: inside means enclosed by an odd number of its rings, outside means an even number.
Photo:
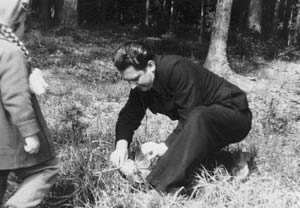
[[[0,35],[0,170],[37,165],[55,157],[52,139],[36,97],[29,91],[29,65],[20,48]],[[37,154],[24,151],[37,134]]]

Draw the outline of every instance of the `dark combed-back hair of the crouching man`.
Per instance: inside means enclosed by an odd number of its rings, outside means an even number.
[[[146,68],[148,61],[154,59],[154,53],[142,42],[126,42],[115,52],[113,63],[122,72],[129,66],[137,70]]]

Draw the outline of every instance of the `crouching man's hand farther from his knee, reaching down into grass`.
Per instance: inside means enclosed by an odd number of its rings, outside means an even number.
[[[128,159],[128,142],[120,140],[117,142],[116,149],[110,155],[110,162],[115,167],[121,167]]]

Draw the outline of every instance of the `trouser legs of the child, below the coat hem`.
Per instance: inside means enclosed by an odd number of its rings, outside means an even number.
[[[10,172],[15,173],[22,182],[5,205],[14,208],[29,208],[41,203],[53,186],[58,171],[59,166],[56,158],[32,167],[0,170],[0,207]]]

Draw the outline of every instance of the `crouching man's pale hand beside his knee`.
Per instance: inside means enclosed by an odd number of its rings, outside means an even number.
[[[141,151],[144,155],[148,156],[148,159],[151,160],[156,156],[162,156],[168,150],[168,147],[165,143],[156,143],[156,142],[147,142],[142,144]]]

